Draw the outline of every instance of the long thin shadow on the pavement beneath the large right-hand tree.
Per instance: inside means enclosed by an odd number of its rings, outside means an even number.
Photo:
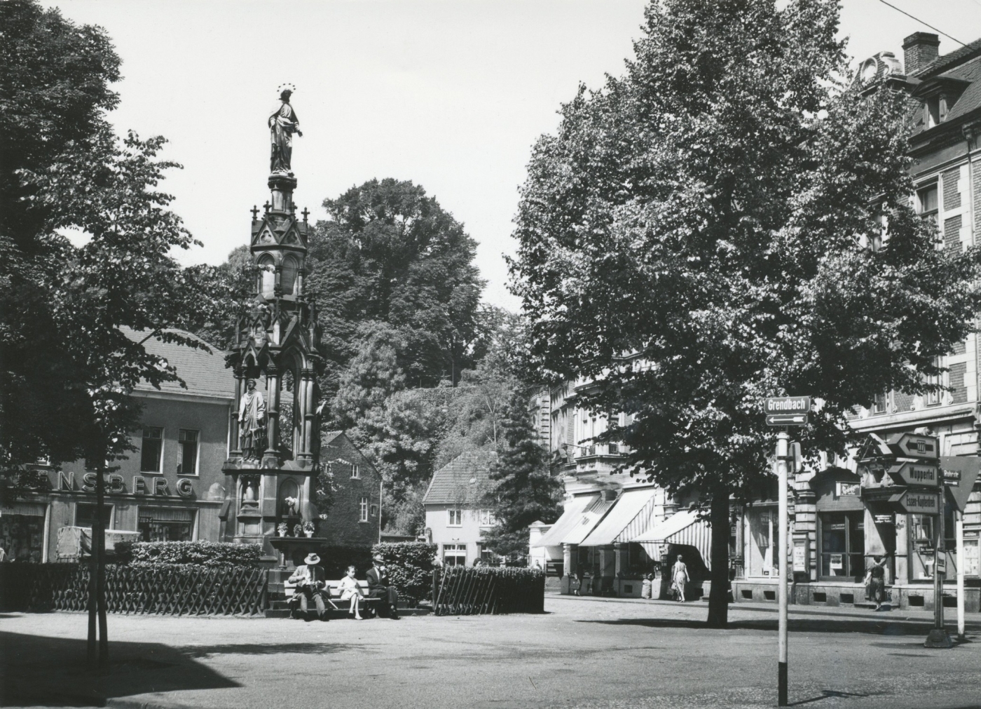
[[[608,626],[644,626],[644,627],[690,627],[709,629],[704,621],[669,618],[620,618],[616,620],[584,620],[576,623],[601,623]],[[788,628],[794,632],[864,632],[871,635],[922,635],[933,627],[928,621],[886,620],[883,618],[792,618]],[[777,619],[760,619],[758,621],[733,621],[730,630],[776,630]]]

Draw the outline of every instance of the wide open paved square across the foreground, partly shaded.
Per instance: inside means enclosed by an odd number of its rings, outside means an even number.
[[[2,703],[118,707],[767,707],[775,605],[549,596],[536,616],[332,621],[110,616],[111,672],[84,670],[83,614],[0,616]],[[981,706],[981,616],[927,650],[926,613],[792,607],[790,700],[811,709]],[[950,627],[950,626],[949,626]]]

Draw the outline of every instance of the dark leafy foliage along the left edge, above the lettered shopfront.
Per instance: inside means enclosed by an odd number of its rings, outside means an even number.
[[[128,450],[132,388],[179,379],[121,328],[197,347],[166,328],[216,296],[200,288],[209,269],[170,256],[194,242],[156,189],[179,167],[157,159],[164,138],[119,140],[105,120],[119,78],[105,32],[20,0],[0,21],[0,464],[101,465]]]

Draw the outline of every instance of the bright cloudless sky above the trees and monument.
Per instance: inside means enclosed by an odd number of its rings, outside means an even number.
[[[709,0],[705,0],[709,2]],[[981,0],[890,0],[970,42]],[[644,0],[61,0],[65,17],[105,27],[125,79],[112,120],[170,139],[183,164],[164,189],[203,248],[181,261],[221,263],[245,244],[268,197],[277,86],[296,84],[298,207],[372,178],[412,180],[478,246],[485,300],[516,309],[502,254],[536,138],[557,127],[579,82],[619,75]],[[864,59],[932,31],[881,0],[842,0],[842,34]],[[941,36],[941,53],[959,45]]]

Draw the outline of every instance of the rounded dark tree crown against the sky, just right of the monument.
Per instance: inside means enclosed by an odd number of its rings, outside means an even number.
[[[307,292],[317,300],[331,365],[323,382],[336,391],[360,323],[400,333],[396,353],[406,380],[436,386],[470,365],[484,282],[473,265],[476,244],[463,225],[422,187],[371,180],[336,199],[317,224]]]

